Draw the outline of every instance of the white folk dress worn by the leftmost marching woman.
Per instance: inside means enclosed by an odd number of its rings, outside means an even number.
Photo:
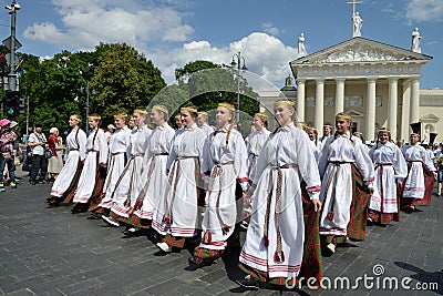
[[[51,197],[68,197],[76,188],[82,170],[82,161],[86,156],[86,133],[74,127],[66,137],[64,165],[51,188]],[[73,194],[72,194],[73,195]],[[70,198],[69,198],[70,200]],[[69,203],[69,201],[68,201]]]

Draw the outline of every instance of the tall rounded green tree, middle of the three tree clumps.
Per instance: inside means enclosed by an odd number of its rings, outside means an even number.
[[[117,111],[146,108],[166,86],[151,60],[125,43],[100,44],[97,67],[91,79],[91,110],[109,121]]]

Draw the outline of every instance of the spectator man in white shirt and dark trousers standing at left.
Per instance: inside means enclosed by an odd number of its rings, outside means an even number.
[[[29,183],[35,185],[39,183],[47,183],[48,160],[44,157],[44,147],[47,145],[47,137],[42,133],[43,125],[38,122],[34,125],[34,132],[29,136],[29,146],[32,149],[32,170]],[[37,175],[40,171],[40,178],[37,181]]]

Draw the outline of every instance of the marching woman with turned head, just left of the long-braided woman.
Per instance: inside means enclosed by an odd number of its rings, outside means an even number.
[[[199,155],[206,134],[198,129],[195,120],[197,109],[181,108],[183,127],[175,132],[167,159],[168,183],[158,205],[154,208],[152,226],[163,238],[157,246],[163,253],[171,253],[172,247],[183,248],[186,238],[198,235],[203,205]]]

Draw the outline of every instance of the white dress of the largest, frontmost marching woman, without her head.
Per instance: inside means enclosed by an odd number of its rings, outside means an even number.
[[[320,176],[308,135],[291,123],[270,134],[253,173],[254,211],[239,262],[268,278],[299,274],[305,241],[300,183],[319,198]]]

